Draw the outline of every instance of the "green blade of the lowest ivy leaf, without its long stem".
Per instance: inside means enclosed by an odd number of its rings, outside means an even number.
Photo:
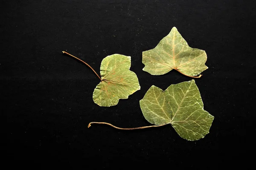
[[[214,119],[204,110],[195,80],[170,85],[165,91],[151,86],[140,100],[140,108],[148,122],[171,124],[182,138],[191,141],[204,138]]]

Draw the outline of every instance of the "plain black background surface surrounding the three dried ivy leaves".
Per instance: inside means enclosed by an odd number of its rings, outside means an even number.
[[[9,0],[1,2],[1,117],[9,168],[190,169],[249,167],[255,149],[255,3],[252,0]],[[142,51],[172,27],[192,48],[207,52],[209,67],[195,79],[204,109],[215,116],[198,141],[171,125],[150,125],[139,101],[151,85],[165,90],[189,81],[177,71],[144,72]],[[141,90],[106,108],[93,102],[103,58],[131,56]]]

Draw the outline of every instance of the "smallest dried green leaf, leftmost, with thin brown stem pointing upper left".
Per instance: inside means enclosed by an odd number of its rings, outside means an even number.
[[[81,59],[62,51],[93,68]],[[110,107],[117,105],[119,99],[128,99],[128,96],[140,90],[137,75],[130,71],[131,57],[113,54],[105,57],[100,66],[101,82],[93,91],[93,101],[99,106]]]

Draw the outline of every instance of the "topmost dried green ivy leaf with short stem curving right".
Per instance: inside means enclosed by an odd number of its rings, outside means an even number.
[[[208,67],[205,65],[207,54],[204,50],[191,48],[186,40],[173,27],[158,45],[148,51],[143,51],[143,71],[152,75],[162,75],[175,69],[181,74],[195,77]],[[199,78],[201,75],[195,78]]]

